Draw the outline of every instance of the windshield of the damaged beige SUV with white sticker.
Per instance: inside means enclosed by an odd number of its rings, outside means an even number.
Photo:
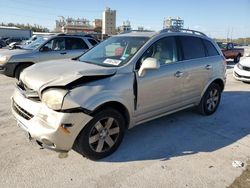
[[[79,60],[105,67],[127,63],[147,42],[148,37],[111,37],[83,54]]]

